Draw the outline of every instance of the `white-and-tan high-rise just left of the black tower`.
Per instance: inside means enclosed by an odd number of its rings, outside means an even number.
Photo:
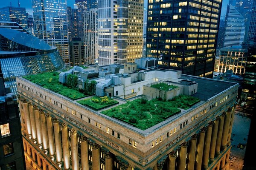
[[[98,1],[99,65],[142,57],[143,0]]]

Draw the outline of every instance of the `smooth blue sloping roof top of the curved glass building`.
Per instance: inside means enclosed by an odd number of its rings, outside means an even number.
[[[30,48],[35,48],[38,50],[50,50],[51,46],[48,45],[45,41],[38,39],[32,35],[16,31],[14,29],[0,28],[0,35],[6,37],[13,42],[16,42],[21,45],[25,45]]]

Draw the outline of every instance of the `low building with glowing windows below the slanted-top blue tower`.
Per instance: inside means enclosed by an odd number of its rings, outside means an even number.
[[[221,48],[218,72],[232,70],[233,74],[244,75],[248,50],[242,48]]]

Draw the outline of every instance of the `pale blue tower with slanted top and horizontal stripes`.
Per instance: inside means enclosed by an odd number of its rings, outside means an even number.
[[[223,47],[241,46],[244,41],[244,17],[229,5]]]

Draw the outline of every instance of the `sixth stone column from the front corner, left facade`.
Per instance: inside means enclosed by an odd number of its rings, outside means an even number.
[[[70,169],[70,151],[69,151],[67,125],[65,123],[61,123],[61,135],[62,135],[64,170],[69,170]]]

